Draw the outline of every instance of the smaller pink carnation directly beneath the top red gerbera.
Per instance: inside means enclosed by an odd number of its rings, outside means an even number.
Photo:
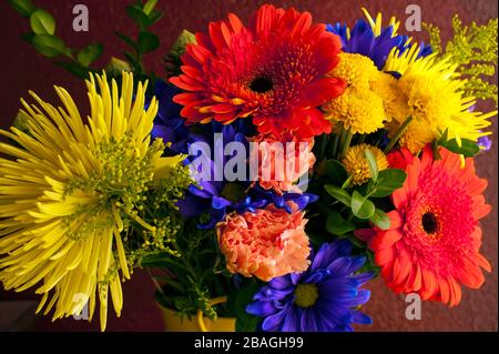
[[[258,149],[252,150],[251,164],[252,171],[258,171],[259,185],[279,194],[302,193],[294,182],[314,166],[314,139],[301,141],[292,133],[283,133],[261,134],[251,141],[258,143]]]

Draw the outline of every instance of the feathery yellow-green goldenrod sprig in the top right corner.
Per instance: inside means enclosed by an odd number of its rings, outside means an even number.
[[[424,27],[430,34],[434,52],[440,57],[449,55],[451,62],[458,65],[457,72],[467,79],[461,89],[464,93],[482,100],[492,99],[497,107],[497,84],[489,80],[497,72],[498,19],[491,19],[482,26],[471,22],[468,27],[462,26],[456,14],[452,19],[454,37],[445,50],[439,28],[428,23]]]

